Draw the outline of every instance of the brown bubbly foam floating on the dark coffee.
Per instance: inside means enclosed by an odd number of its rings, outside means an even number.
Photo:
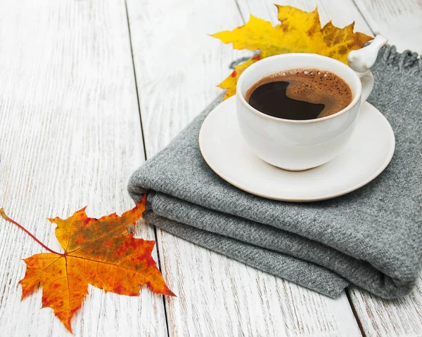
[[[302,100],[308,103],[324,104],[324,110],[316,118],[330,116],[352,102],[352,89],[350,86],[332,72],[302,68],[277,72],[257,81],[246,93],[249,101],[252,92],[263,84],[274,81],[289,83],[286,91],[288,98]]]

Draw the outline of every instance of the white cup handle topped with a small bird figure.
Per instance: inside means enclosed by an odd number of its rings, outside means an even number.
[[[388,42],[383,35],[377,35],[368,46],[351,51],[347,55],[349,67],[356,72],[362,82],[361,105],[366,102],[373,88],[373,74],[369,70],[376,61],[378,51]]]

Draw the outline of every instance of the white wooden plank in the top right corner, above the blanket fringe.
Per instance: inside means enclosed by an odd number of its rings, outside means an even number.
[[[354,0],[376,34],[388,37],[397,51],[422,53],[421,0]]]

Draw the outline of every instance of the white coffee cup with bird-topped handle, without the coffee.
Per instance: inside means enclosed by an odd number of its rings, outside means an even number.
[[[386,42],[385,37],[378,35],[369,46],[350,52],[350,67],[333,58],[309,53],[271,56],[250,65],[238,79],[236,111],[241,134],[252,151],[267,163],[289,171],[312,169],[337,156],[352,134],[362,103],[372,91],[369,67]],[[298,68],[337,74],[352,89],[352,102],[335,114],[308,120],[271,117],[246,102],[248,89],[263,77]]]

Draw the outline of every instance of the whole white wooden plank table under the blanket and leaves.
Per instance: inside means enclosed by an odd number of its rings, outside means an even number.
[[[13,0],[0,11],[0,206],[52,249],[46,217],[89,205],[132,207],[127,180],[219,93],[233,51],[207,34],[249,13],[276,22],[271,0]],[[382,33],[422,52],[421,0],[280,0],[322,23]],[[177,298],[89,287],[75,336],[422,336],[422,282],[399,300],[360,289],[331,299],[155,230],[155,259]],[[41,252],[0,221],[0,336],[69,336],[41,291],[20,302],[22,258]]]

